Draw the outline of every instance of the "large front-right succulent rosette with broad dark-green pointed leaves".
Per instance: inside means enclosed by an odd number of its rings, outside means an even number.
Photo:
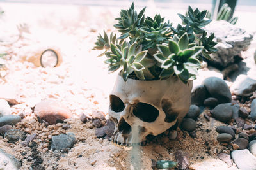
[[[169,39],[168,44],[157,45],[158,51],[154,58],[158,66],[163,69],[159,78],[168,78],[175,74],[183,83],[195,80],[196,69],[200,67],[200,61],[196,56],[203,48],[204,46],[189,43],[187,33],[180,38],[174,36],[173,39]]]

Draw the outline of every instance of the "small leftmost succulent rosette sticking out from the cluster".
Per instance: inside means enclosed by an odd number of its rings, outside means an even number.
[[[101,34],[97,36],[97,42],[95,43],[96,46],[94,46],[93,50],[105,50],[104,53],[98,55],[98,57],[101,57],[106,52],[108,52],[111,43],[116,43],[116,34],[113,36],[113,33],[111,32],[110,38],[108,38],[106,32],[103,31],[103,36]]]

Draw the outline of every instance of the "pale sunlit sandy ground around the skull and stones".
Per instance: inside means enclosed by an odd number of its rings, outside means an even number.
[[[152,160],[175,160],[174,153],[183,150],[189,153],[191,169],[236,169],[218,159],[218,153],[230,150],[216,141],[216,126],[222,123],[211,118],[205,120],[203,114],[197,121],[196,138],[188,132],[179,130],[179,137],[169,141],[164,134],[152,139],[147,146],[123,148],[116,146],[108,139],[98,139],[92,123],[83,124],[79,119],[81,113],[90,115],[92,110],[108,113],[108,94],[115,83],[116,73],[107,74],[103,58],[97,58],[99,52],[92,51],[99,32],[102,29],[111,31],[119,13],[116,8],[95,6],[65,6],[47,4],[14,4],[0,3],[5,11],[1,25],[5,34],[1,38],[12,42],[19,32],[16,25],[26,23],[30,34],[24,33],[17,43],[1,46],[7,50],[8,62],[6,70],[1,70],[0,83],[8,83],[20,92],[20,106],[13,106],[13,113],[35,106],[42,99],[53,98],[74,113],[67,124],[71,129],[58,129],[60,132],[74,132],[77,143],[70,152],[52,152],[44,150],[44,143],[38,139],[37,150],[31,150],[18,142],[6,143],[0,140],[0,148],[6,150],[21,160],[20,169],[29,169],[32,162],[28,157],[36,153],[43,162],[44,169],[151,169]],[[154,6],[148,13],[158,10]],[[164,14],[168,11],[163,11]],[[172,11],[174,22],[177,21],[177,11]],[[179,11],[182,13],[182,11]],[[63,63],[54,69],[35,67],[22,61],[25,55],[24,46],[33,50],[43,46],[57,46],[63,53]],[[42,46],[42,47],[41,47]],[[29,110],[29,109],[28,109]],[[206,110],[205,113],[208,113]],[[108,115],[106,116],[108,118]],[[22,122],[35,119],[33,113]],[[40,126],[37,120],[35,120]],[[24,129],[26,123],[17,127]],[[26,152],[26,153],[24,153]],[[134,157],[139,164],[134,163]],[[33,159],[36,159],[33,157]]]

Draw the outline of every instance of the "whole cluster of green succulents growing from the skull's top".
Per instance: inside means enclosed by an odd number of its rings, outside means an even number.
[[[134,4],[121,10],[118,24],[120,32],[109,38],[104,31],[99,35],[93,50],[104,50],[109,73],[120,68],[124,81],[129,77],[140,80],[157,80],[177,76],[182,82],[195,80],[200,61],[211,59],[216,52],[214,34],[207,37],[203,27],[211,22],[205,20],[207,11],[193,10],[190,6],[186,15],[178,14],[182,24],[173,27],[164,22],[161,15],[145,17],[145,8],[139,13]],[[100,55],[100,56],[101,56]]]

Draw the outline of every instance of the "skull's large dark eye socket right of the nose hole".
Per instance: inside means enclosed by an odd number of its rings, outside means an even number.
[[[133,114],[144,122],[154,122],[159,116],[159,111],[154,106],[147,103],[133,104]]]

